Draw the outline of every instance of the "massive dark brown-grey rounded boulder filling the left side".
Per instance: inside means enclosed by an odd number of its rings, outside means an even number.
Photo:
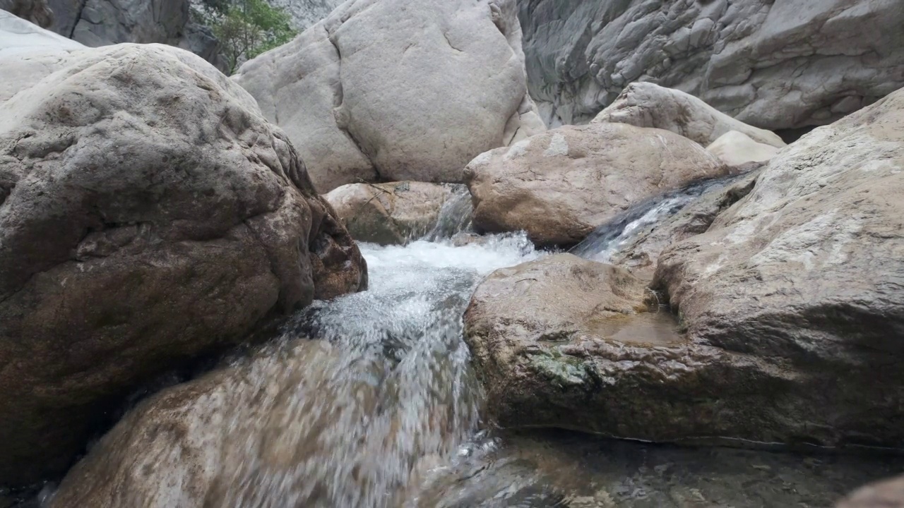
[[[5,485],[60,473],[137,383],[366,285],[286,136],[208,63],[123,44],[56,69],[0,103]]]

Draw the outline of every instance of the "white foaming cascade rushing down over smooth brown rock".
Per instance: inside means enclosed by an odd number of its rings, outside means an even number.
[[[368,291],[315,303],[281,343],[139,406],[51,506],[382,508],[409,499],[476,431],[480,390],[462,338],[474,287],[539,254],[523,234],[361,247]]]

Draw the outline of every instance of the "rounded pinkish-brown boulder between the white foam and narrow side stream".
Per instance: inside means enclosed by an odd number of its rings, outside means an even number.
[[[573,245],[635,202],[725,171],[682,136],[600,123],[482,154],[467,165],[466,183],[477,230],[526,230],[541,246]]]

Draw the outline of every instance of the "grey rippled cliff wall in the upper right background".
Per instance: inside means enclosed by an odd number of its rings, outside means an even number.
[[[519,7],[531,94],[552,126],[588,121],[633,81],[681,89],[770,130],[824,125],[904,86],[899,2],[523,0]]]

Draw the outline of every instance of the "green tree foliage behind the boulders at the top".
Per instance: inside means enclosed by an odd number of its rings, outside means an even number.
[[[242,62],[258,56],[297,35],[292,20],[267,0],[207,0],[203,12],[194,13],[220,40],[232,74]]]

